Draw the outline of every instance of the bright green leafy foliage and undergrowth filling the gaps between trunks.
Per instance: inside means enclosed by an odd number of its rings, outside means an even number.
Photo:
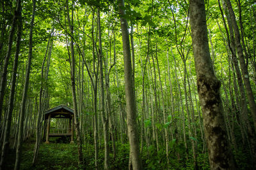
[[[70,9],[74,9],[74,41],[75,41],[75,55],[76,55],[76,88],[77,88],[77,101],[81,101],[83,111],[79,115],[79,120],[83,122],[81,125],[82,132],[84,132],[83,137],[85,138],[83,146],[84,160],[86,162],[86,169],[94,169],[94,146],[93,146],[93,92],[92,83],[90,82],[90,77],[88,73],[93,74],[93,64],[95,64],[95,69],[98,69],[97,62],[98,56],[93,58],[93,52],[99,52],[99,31],[97,28],[97,8],[100,8],[101,16],[101,29],[102,29],[102,53],[104,54],[104,59],[109,71],[109,94],[111,98],[111,109],[109,114],[113,118],[113,131],[115,131],[116,140],[116,157],[113,158],[113,151],[110,153],[110,164],[111,169],[127,169],[129,161],[129,145],[127,144],[127,134],[125,131],[120,131],[120,126],[125,124],[126,121],[126,111],[125,111],[125,84],[124,84],[124,60],[123,60],[123,49],[122,49],[122,32],[120,32],[120,23],[117,10],[116,1],[97,1],[97,0],[79,0],[74,1],[74,7],[71,7],[72,1],[70,3]],[[235,1],[232,1],[232,3]],[[207,4],[208,3],[208,4]],[[234,83],[236,81],[236,73],[233,75],[233,68],[231,67],[232,60],[230,60],[230,54],[227,52],[227,45],[225,43],[227,38],[225,38],[225,29],[223,27],[223,22],[220,18],[220,10],[218,4],[215,1],[207,1],[207,27],[211,30],[211,38],[213,43],[214,52],[216,56],[214,58],[214,69],[216,71],[216,76],[223,81],[221,83],[221,96],[225,96],[223,100],[226,104],[224,108],[228,111],[226,121],[232,118],[235,121],[234,134],[236,136],[236,141],[239,146],[242,142],[241,129],[238,127],[241,122],[239,122],[239,108],[236,108],[236,104],[231,102],[240,101],[239,92],[235,95]],[[35,28],[34,28],[34,43],[33,43],[33,61],[31,69],[31,80],[29,82],[30,90],[28,92],[29,104],[28,104],[28,127],[30,125],[35,125],[36,113],[38,113],[39,106],[39,92],[41,87],[41,81],[46,83],[44,92],[46,92],[47,104],[45,104],[45,109],[50,106],[57,106],[59,104],[69,104],[72,107],[72,93],[70,90],[70,61],[68,52],[70,52],[69,45],[70,37],[68,36],[67,28],[67,11],[65,10],[65,1],[37,1],[36,2],[36,18],[35,18]],[[0,54],[4,56],[7,50],[8,44],[8,33],[10,31],[10,25],[12,23],[12,14],[14,11],[15,1],[6,1],[1,4],[2,11],[0,11],[1,16],[1,42],[3,42],[3,48],[1,46]],[[235,13],[238,14],[238,8],[236,3]],[[255,44],[255,3],[253,1],[242,1],[242,15],[244,23],[244,38],[246,39],[246,48],[248,48],[248,53],[253,55],[255,49],[253,45]],[[13,111],[13,120],[19,120],[19,103],[21,101],[24,76],[26,69],[26,58],[28,56],[28,32],[29,32],[29,21],[31,19],[32,10],[31,1],[22,2],[22,41],[21,41],[21,51],[19,59],[19,73],[17,73],[17,89],[15,90],[15,108]],[[199,128],[199,118],[200,114],[200,104],[198,102],[198,95],[196,93],[196,72],[195,72],[195,62],[193,59],[193,52],[191,50],[191,35],[190,26],[186,27],[186,22],[188,19],[188,2],[187,1],[141,1],[141,0],[130,0],[125,2],[126,14],[123,16],[128,20],[129,31],[131,32],[131,23],[133,24],[133,36],[134,36],[134,50],[135,50],[135,80],[134,88],[136,89],[136,107],[138,107],[138,122],[139,128],[142,124],[145,125],[148,134],[147,138],[150,138],[150,146],[145,145],[145,138],[143,138],[143,167],[145,169],[193,169],[193,152],[191,149],[191,142],[196,141],[197,143],[197,162],[199,169],[209,169],[209,161],[207,153],[202,153],[205,150],[205,144],[203,143],[200,136]],[[172,10],[173,16],[172,16]],[[12,11],[8,11],[11,9]],[[56,10],[58,9],[58,10]],[[71,14],[71,13],[70,13]],[[93,18],[94,14],[94,18]],[[238,15],[237,15],[238,16]],[[94,22],[93,22],[94,20]],[[175,22],[174,22],[175,20]],[[220,23],[220,28],[216,22]],[[92,28],[92,23],[94,28]],[[237,22],[238,23],[238,22]],[[54,26],[54,35],[51,35],[51,29]],[[186,32],[185,32],[186,31]],[[92,33],[93,32],[93,33]],[[224,35],[224,36],[223,36]],[[16,36],[16,34],[15,34]],[[114,42],[115,36],[115,42]],[[49,54],[50,48],[46,50],[47,41],[51,38],[54,40],[51,49],[51,60],[49,67],[49,76],[47,82],[41,80],[40,69],[42,62],[44,60],[45,54]],[[94,38],[95,42],[92,42]],[[94,43],[94,44],[93,44]],[[248,44],[247,44],[248,43]],[[114,54],[114,44],[115,44],[115,54]],[[2,45],[2,43],[1,43]],[[93,45],[94,48],[93,48]],[[156,48],[157,46],[157,48]],[[171,48],[172,47],[172,48]],[[210,46],[211,47],[211,46]],[[81,50],[81,51],[79,51]],[[172,51],[171,51],[172,50]],[[210,49],[211,50],[211,49]],[[13,42],[13,52],[10,59],[10,64],[8,70],[12,70],[13,65],[13,55],[15,52],[15,42]],[[84,53],[84,56],[82,56]],[[182,56],[186,55],[187,59],[184,62]],[[115,55],[115,59],[114,58]],[[148,60],[146,61],[148,55]],[[156,60],[153,63],[152,59],[159,60],[159,73],[154,69],[157,69]],[[166,55],[168,55],[168,60]],[[253,71],[253,57],[248,58],[248,69],[250,78],[255,81],[255,74]],[[80,62],[79,62],[80,60]],[[84,60],[88,64],[88,68],[84,66],[84,70],[81,67],[81,61]],[[170,74],[167,67],[167,61],[170,62]],[[115,65],[113,63],[115,62]],[[3,59],[1,59],[3,64]],[[145,67],[145,64],[147,66]],[[186,64],[186,69],[188,71],[188,81],[184,82],[184,66]],[[44,65],[46,68],[46,64]],[[142,69],[141,69],[142,68]],[[88,70],[87,70],[88,69]],[[105,69],[105,68],[104,68]],[[46,71],[46,70],[44,70]],[[105,70],[104,70],[105,71]],[[143,77],[143,71],[145,71],[145,77]],[[80,73],[80,74],[79,74]],[[84,73],[84,80],[81,78],[81,73]],[[5,108],[8,108],[8,94],[10,93],[10,81],[11,72],[8,72],[8,87],[6,89],[6,96],[4,97]],[[105,75],[104,75],[105,76]],[[168,80],[170,76],[170,80]],[[160,102],[161,92],[160,92],[160,82],[159,77],[162,80],[163,93],[164,93],[164,103]],[[98,77],[99,78],[99,77]],[[156,78],[156,85],[154,85],[154,79]],[[142,108],[143,97],[142,97],[142,84],[144,80],[144,92],[145,92],[145,106],[148,108]],[[83,82],[83,99],[79,96],[81,93],[81,82]],[[104,82],[106,83],[106,82]],[[253,84],[253,83],[252,83]],[[184,85],[187,85],[187,94],[185,94]],[[190,85],[190,87],[189,87]],[[172,90],[171,90],[172,86]],[[98,86],[99,87],[99,86]],[[190,88],[190,89],[188,89]],[[226,89],[225,89],[226,88]],[[156,97],[154,96],[156,89]],[[255,92],[255,86],[252,86],[253,92]],[[230,90],[226,92],[225,90]],[[179,94],[180,91],[180,94]],[[171,102],[170,93],[172,93],[173,99]],[[191,94],[191,99],[189,99],[189,93]],[[194,95],[195,93],[195,95]],[[227,94],[226,94],[227,93]],[[234,93],[234,94],[233,94]],[[179,96],[180,95],[180,96]],[[191,122],[191,126],[194,126],[198,136],[195,134],[189,134],[191,129],[188,129],[188,114],[186,111],[186,99],[188,97],[188,113],[191,114],[192,110],[195,112],[195,122]],[[237,97],[238,96],[238,97]],[[99,97],[99,96],[98,96]],[[237,97],[236,99],[234,97]],[[157,99],[158,98],[158,99]],[[224,98],[223,98],[224,99]],[[197,100],[197,103],[196,103]],[[48,103],[49,101],[49,103]],[[99,99],[97,99],[99,102]],[[173,106],[171,106],[173,103]],[[231,103],[231,104],[230,104]],[[150,105],[152,104],[152,106]],[[182,105],[183,104],[183,105]],[[239,105],[239,104],[238,104]],[[97,103],[99,106],[99,103]],[[184,108],[184,115],[182,115],[181,106]],[[79,105],[80,107],[80,105]],[[166,113],[170,114],[172,110],[172,115],[168,115],[167,122],[163,121],[163,107],[166,107]],[[173,107],[173,108],[171,108]],[[142,109],[146,110],[146,114],[142,115]],[[248,107],[249,118],[250,108]],[[233,113],[236,112],[236,113]],[[80,114],[80,113],[79,113]],[[236,115],[233,115],[236,114]],[[3,115],[5,116],[5,115]],[[81,116],[81,117],[80,117]],[[100,117],[101,115],[99,115]],[[145,116],[144,122],[141,122],[142,116]],[[155,132],[152,132],[152,117],[155,118]],[[3,118],[3,117],[2,117]],[[123,120],[122,120],[123,119]],[[233,120],[234,119],[234,120]],[[184,142],[180,141],[183,133],[182,121],[185,122],[185,134],[187,135],[186,141],[188,148],[185,147]],[[13,121],[13,122],[15,122]],[[124,122],[122,122],[124,121]],[[238,121],[238,122],[237,122]],[[252,120],[249,120],[251,124]],[[0,121],[1,122],[1,121]],[[3,121],[2,121],[3,122]],[[1,123],[2,123],[1,122]],[[120,124],[122,122],[122,124]],[[164,123],[163,123],[164,122]],[[101,138],[99,146],[99,167],[102,168],[104,162],[104,141],[102,136],[102,124],[99,118],[99,138]],[[232,123],[232,122],[230,122]],[[12,125],[16,127],[16,125]],[[172,131],[170,131],[172,127]],[[125,129],[126,127],[124,127]],[[169,141],[169,160],[168,165],[166,159],[166,148],[164,146],[164,130],[168,131],[168,136],[171,133],[174,138]],[[30,130],[29,130],[30,131]],[[141,129],[140,129],[141,131]],[[14,131],[15,132],[15,131]],[[88,132],[88,133],[86,133]],[[191,131],[192,132],[192,131]],[[156,141],[152,141],[152,134],[157,133],[159,138],[159,150],[157,152]],[[179,137],[178,137],[179,135]],[[192,135],[192,136],[189,136]],[[13,136],[13,134],[11,135]],[[189,136],[189,137],[188,137]],[[113,136],[111,136],[113,137]],[[123,139],[124,143],[120,142],[120,138]],[[204,138],[204,136],[202,136]],[[50,145],[42,145],[40,148],[40,154],[36,167],[31,167],[31,159],[33,155],[33,145],[26,143],[24,145],[24,152],[22,153],[22,169],[80,169],[77,165],[77,148],[76,145],[63,144],[65,141],[60,141],[58,144],[51,143]],[[109,141],[109,146],[111,146],[112,141]],[[237,160],[237,165],[239,169],[251,169],[250,162],[250,150],[244,146],[234,151],[234,156]],[[15,154],[12,151],[10,155],[10,162],[13,162],[13,157]],[[64,163],[63,163],[64,162]],[[12,169],[12,168],[10,168]]]

